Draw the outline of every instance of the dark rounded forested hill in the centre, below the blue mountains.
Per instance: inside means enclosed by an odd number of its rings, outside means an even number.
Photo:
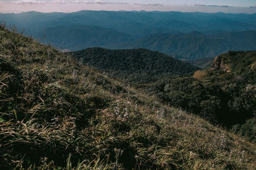
[[[170,76],[191,74],[198,70],[168,55],[147,49],[88,48],[70,54],[83,59],[84,64],[136,83],[149,83]]]

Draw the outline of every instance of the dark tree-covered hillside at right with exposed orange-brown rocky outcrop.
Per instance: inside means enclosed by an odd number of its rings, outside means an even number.
[[[228,52],[193,77],[159,80],[143,87],[163,103],[181,107],[213,124],[255,138],[256,52]]]

